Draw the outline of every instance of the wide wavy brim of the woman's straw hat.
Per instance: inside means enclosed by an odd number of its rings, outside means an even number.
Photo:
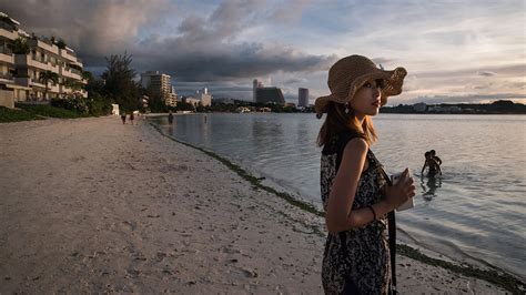
[[[322,118],[323,113],[326,112],[326,106],[330,101],[336,103],[347,103],[353,98],[356,91],[363,87],[363,84],[370,80],[382,79],[385,81],[384,87],[382,88],[382,106],[387,103],[388,96],[398,95],[402,93],[402,87],[404,84],[404,78],[407,75],[407,71],[404,68],[396,68],[393,71],[384,71],[376,69],[376,71],[361,75],[356,78],[351,84],[347,96],[340,98],[331,93],[330,95],[320,96],[314,103],[314,109],[316,111],[316,116]]]

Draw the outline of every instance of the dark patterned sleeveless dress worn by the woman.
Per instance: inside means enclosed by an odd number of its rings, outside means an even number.
[[[321,189],[326,212],[328,195],[348,141],[360,135],[345,131],[327,142],[322,151]],[[381,187],[386,183],[381,163],[371,150],[366,159],[368,167],[360,176],[352,210],[367,207],[383,199]],[[390,248],[387,218],[362,227],[328,234],[322,264],[322,283],[326,294],[387,294],[390,282]]]

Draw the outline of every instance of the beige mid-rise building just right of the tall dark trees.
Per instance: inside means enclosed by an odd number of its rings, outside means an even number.
[[[175,106],[178,103],[176,94],[173,100],[172,82],[169,74],[159,71],[146,71],[141,73],[141,87],[149,91],[154,98],[160,98],[166,105]]]

